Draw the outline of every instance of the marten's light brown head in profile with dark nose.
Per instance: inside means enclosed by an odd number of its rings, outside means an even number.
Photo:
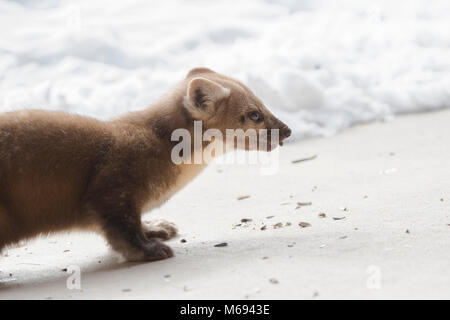
[[[227,129],[242,129],[246,150],[270,151],[291,135],[291,129],[241,82],[207,68],[191,70],[186,81],[184,107],[193,119],[202,121],[205,130],[218,129],[225,138]],[[267,135],[261,129],[266,129]],[[273,129],[278,129],[278,138]],[[257,146],[249,144],[248,132],[256,132]]]

